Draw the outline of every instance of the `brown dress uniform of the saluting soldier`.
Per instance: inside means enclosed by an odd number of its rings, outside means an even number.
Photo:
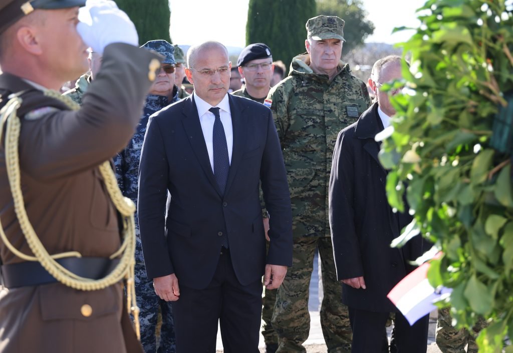
[[[28,218],[50,254],[78,251],[83,257],[108,260],[120,248],[117,212],[98,165],[130,140],[151,86],[149,76],[154,76],[149,68],[160,65],[156,58],[132,45],[108,45],[101,74],[78,111],[20,77],[5,71],[0,75],[0,107],[13,93],[23,100],[17,111],[22,124],[21,183]],[[4,145],[0,146],[0,218],[9,241],[32,254],[14,213]],[[0,260],[3,276],[6,266],[37,265],[18,258],[3,241]],[[123,297],[122,283],[93,291],[57,282],[0,286],[0,351],[142,352]]]

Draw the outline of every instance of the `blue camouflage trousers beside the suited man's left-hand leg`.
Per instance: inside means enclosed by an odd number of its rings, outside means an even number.
[[[135,264],[135,294],[137,306],[141,309],[139,322],[141,324],[141,344],[145,353],[176,353],[171,303],[157,297],[153,289],[153,281],[148,280],[146,276],[144,263]],[[159,309],[162,314],[162,326],[160,327],[160,340],[157,342]]]

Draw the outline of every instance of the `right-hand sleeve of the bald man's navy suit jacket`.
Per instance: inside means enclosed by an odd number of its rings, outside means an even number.
[[[272,113],[267,119],[267,141],[260,169],[262,191],[269,212],[267,264],[292,266],[292,210],[287,172]]]

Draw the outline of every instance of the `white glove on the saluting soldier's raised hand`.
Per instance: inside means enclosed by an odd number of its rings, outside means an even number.
[[[87,0],[78,12],[78,34],[93,51],[103,54],[111,43],[139,46],[139,36],[127,14],[110,0]]]

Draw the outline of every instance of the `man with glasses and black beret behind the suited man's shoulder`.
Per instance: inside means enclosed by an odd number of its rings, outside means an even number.
[[[248,45],[241,51],[237,66],[245,85],[232,92],[232,94],[263,104],[271,89],[271,79],[274,72],[269,47],[264,43]]]

